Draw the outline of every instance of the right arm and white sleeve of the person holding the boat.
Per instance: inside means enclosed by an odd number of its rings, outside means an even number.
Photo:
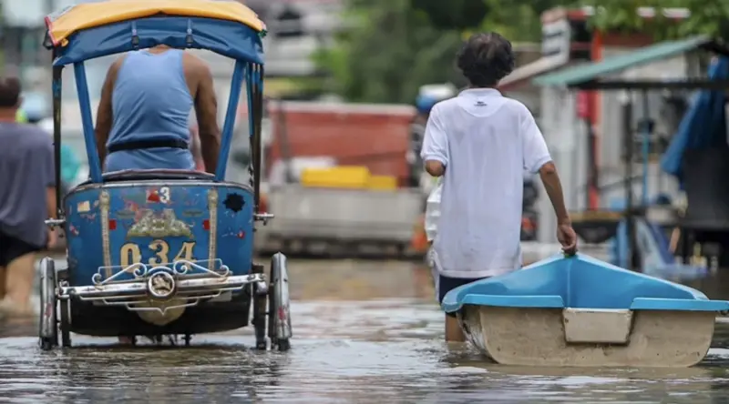
[[[527,111],[521,123],[524,168],[531,173],[539,173],[542,184],[547,191],[549,201],[557,216],[558,237],[562,247],[567,252],[573,252],[577,247],[577,237],[572,230],[570,215],[564,203],[564,193],[557,167],[549,156],[549,148],[544,136],[534,120],[534,116]]]

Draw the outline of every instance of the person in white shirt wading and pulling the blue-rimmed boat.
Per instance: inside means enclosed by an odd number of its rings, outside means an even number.
[[[421,150],[426,171],[443,177],[433,245],[440,301],[453,288],[521,268],[524,169],[544,183],[565,253],[577,250],[560,177],[534,116],[495,88],[514,69],[511,43],[496,33],[473,35],[457,65],[470,86],[433,107]],[[464,340],[455,317],[446,317],[446,339]]]

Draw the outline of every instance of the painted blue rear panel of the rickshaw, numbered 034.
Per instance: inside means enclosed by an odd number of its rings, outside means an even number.
[[[91,285],[95,276],[103,280],[138,263],[172,268],[175,261],[197,261],[210,269],[225,265],[233,275],[251,270],[249,187],[200,181],[107,183],[72,191],[64,205],[71,286]],[[115,281],[134,278],[129,272]]]

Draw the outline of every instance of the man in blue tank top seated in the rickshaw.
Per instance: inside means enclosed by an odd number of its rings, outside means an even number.
[[[96,138],[104,171],[195,169],[188,124],[193,106],[202,159],[213,172],[221,132],[210,68],[167,45],[119,57],[109,67],[98,105]]]

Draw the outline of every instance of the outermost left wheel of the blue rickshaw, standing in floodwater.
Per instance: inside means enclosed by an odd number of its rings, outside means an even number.
[[[40,261],[38,342],[43,350],[50,350],[58,346],[56,302],[56,266],[53,259],[46,257]]]

